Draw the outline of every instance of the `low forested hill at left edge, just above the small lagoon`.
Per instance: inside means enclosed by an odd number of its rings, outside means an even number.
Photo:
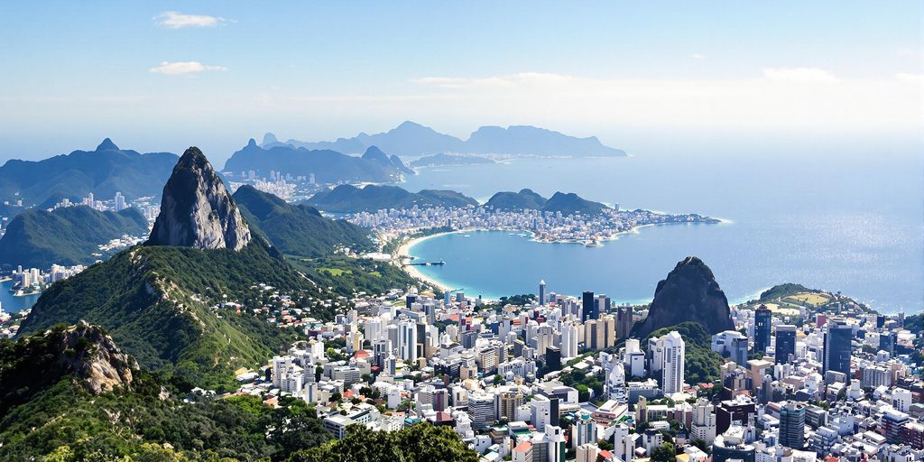
[[[119,213],[99,212],[86,206],[65,207],[52,212],[29,209],[19,213],[0,238],[0,265],[50,268],[90,264],[99,246],[112,239],[142,236],[148,221],[135,208]]]

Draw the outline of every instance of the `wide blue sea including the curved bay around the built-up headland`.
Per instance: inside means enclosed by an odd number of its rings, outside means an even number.
[[[643,227],[600,247],[482,231],[410,249],[443,266],[419,271],[467,295],[547,290],[646,303],[678,261],[695,255],[732,303],[781,283],[842,292],[881,312],[924,308],[924,163],[919,145],[764,143],[646,149],[629,157],[522,158],[429,167],[400,184],[454,189],[479,201],[531,188],[576,192],[621,209],[700,213],[719,225]]]

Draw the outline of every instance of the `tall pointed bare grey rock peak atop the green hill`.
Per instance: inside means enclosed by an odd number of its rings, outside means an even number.
[[[147,244],[240,250],[250,230],[199,148],[186,150],[164,186],[161,213]]]

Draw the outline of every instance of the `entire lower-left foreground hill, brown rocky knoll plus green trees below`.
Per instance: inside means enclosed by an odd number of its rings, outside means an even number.
[[[331,438],[299,399],[186,403],[82,322],[0,340],[0,365],[2,460],[281,460]]]

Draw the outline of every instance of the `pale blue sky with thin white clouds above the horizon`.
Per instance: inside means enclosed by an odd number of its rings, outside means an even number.
[[[413,120],[671,138],[910,140],[924,3],[4,2],[0,161],[333,140]]]

